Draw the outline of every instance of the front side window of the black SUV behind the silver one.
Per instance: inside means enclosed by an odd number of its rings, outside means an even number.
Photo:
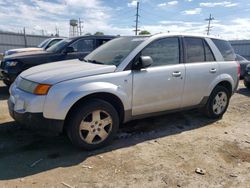
[[[71,44],[76,52],[90,52],[94,49],[94,41],[92,39],[80,39]]]

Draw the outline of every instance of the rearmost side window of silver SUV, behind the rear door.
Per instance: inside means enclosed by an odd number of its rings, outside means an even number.
[[[220,50],[221,55],[223,56],[225,61],[234,61],[235,54],[231,44],[228,41],[212,39],[214,44]]]

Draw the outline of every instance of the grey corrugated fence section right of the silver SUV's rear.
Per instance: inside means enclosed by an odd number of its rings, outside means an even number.
[[[250,60],[250,40],[232,40],[230,43],[236,54]]]

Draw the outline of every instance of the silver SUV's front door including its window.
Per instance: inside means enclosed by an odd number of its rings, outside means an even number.
[[[133,71],[132,115],[178,109],[181,105],[185,67],[180,63],[179,38],[156,40],[144,48],[153,64]]]

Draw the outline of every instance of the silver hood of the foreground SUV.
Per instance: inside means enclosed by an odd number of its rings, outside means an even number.
[[[111,73],[115,69],[114,65],[93,64],[73,59],[35,66],[22,72],[20,76],[37,83],[53,85],[75,78]]]

